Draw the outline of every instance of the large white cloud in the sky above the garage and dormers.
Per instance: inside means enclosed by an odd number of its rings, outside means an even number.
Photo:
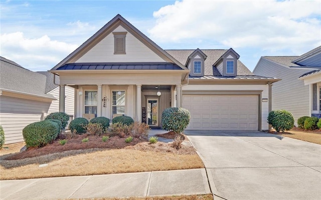
[[[293,49],[300,54],[302,47],[321,45],[320,6],[318,0],[183,0],[154,12],[156,25],[148,33],[156,43],[200,45],[203,40],[226,48]]]

